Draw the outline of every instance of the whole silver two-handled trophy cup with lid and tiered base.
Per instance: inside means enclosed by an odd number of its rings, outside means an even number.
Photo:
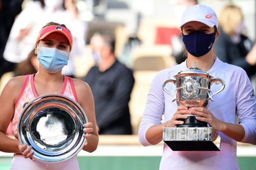
[[[174,78],[163,82],[163,91],[174,97],[172,102],[176,100],[178,106],[183,105],[188,108],[207,108],[209,100],[214,101],[212,96],[225,88],[222,79],[213,78],[206,71],[196,68],[195,60],[192,68],[180,71]],[[176,86],[176,95],[168,91],[169,82]],[[221,83],[221,88],[212,94],[211,86],[214,83]],[[214,133],[212,127],[207,127],[207,122],[196,120],[196,115],[186,115],[187,119],[180,119],[184,122],[182,125],[163,128],[163,141],[172,150],[219,150],[217,133]]]

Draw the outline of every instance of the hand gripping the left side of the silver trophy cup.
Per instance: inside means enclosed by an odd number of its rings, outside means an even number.
[[[185,106],[179,106],[177,111],[173,114],[172,119],[166,122],[166,127],[175,127],[176,125],[181,125],[184,122],[177,119],[187,119],[188,116],[184,115],[188,113],[188,108]]]

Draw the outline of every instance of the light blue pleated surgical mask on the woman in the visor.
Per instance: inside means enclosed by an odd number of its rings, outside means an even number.
[[[38,61],[45,71],[57,73],[67,65],[68,52],[48,47],[40,47],[39,49]]]

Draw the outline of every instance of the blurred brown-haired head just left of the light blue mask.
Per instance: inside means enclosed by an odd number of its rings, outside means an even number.
[[[38,57],[35,54],[35,49],[33,49],[26,60],[17,64],[15,76],[35,74],[38,71],[38,63]]]

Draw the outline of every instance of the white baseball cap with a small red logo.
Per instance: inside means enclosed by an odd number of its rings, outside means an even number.
[[[218,28],[218,17],[215,11],[211,7],[203,4],[187,8],[182,15],[180,27],[190,21],[198,21],[209,27],[216,26]]]

